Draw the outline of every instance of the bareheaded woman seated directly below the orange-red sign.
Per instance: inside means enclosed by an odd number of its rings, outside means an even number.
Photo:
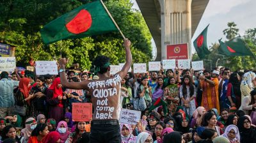
[[[85,122],[77,122],[75,132],[70,133],[65,143],[76,143],[81,139],[81,135],[84,133]]]

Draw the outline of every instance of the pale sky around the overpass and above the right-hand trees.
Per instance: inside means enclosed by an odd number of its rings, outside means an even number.
[[[136,0],[133,8],[138,9]],[[210,47],[212,43],[218,42],[220,38],[226,40],[223,30],[227,28],[228,22],[235,22],[239,29],[239,34],[244,35],[245,31],[256,27],[256,1],[255,0],[210,0],[202,19],[200,20],[192,42],[208,25],[207,45]],[[153,44],[153,47],[155,45]],[[195,48],[192,44],[192,53]]]

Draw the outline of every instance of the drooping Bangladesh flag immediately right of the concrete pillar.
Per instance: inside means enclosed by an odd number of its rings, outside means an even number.
[[[204,59],[205,55],[211,53],[207,48],[207,29],[208,29],[208,26],[205,27],[204,31],[202,31],[202,33],[193,42],[196,53],[200,57],[200,59]]]

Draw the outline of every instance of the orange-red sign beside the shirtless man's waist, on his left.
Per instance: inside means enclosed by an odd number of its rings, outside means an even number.
[[[72,103],[72,121],[92,120],[92,103]]]

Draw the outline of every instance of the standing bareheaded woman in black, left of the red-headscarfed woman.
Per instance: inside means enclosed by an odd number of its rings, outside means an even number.
[[[36,79],[36,86],[31,88],[31,93],[34,93],[33,98],[30,100],[31,116],[36,117],[38,114],[46,114],[46,89],[44,85],[44,77],[40,76]]]

